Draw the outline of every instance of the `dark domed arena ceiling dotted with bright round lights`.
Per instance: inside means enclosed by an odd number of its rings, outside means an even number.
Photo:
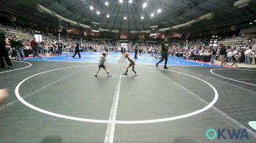
[[[108,5],[105,4],[106,1]],[[69,20],[88,26],[91,26],[91,22],[97,22],[99,28],[116,31],[148,31],[150,26],[168,28],[214,12],[214,17],[210,20],[176,29],[203,31],[248,20],[256,15],[255,1],[242,9],[233,6],[237,0],[132,0],[132,3],[129,3],[130,0],[123,0],[122,3],[119,1],[8,0],[1,4],[0,9],[25,15],[41,23],[56,23],[54,18],[37,10],[36,5],[40,4]],[[143,8],[145,2],[146,7]],[[91,7],[93,9],[90,9]],[[157,12],[159,9],[161,12]],[[152,13],[154,17],[151,17]]]

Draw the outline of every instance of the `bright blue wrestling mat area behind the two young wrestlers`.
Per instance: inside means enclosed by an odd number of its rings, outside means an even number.
[[[81,58],[78,58],[76,55],[75,58],[72,58],[71,53],[69,57],[67,54],[63,54],[61,56],[54,56],[48,58],[29,58],[26,61],[63,61],[63,62],[81,62],[81,63],[99,63],[99,58],[102,56],[102,53],[80,53]],[[129,53],[129,56],[134,59],[135,53]],[[107,56],[107,63],[118,63],[119,59],[121,58],[121,53],[108,53]],[[138,65],[155,65],[159,59],[154,58],[150,54],[138,54],[138,59],[135,59],[135,63]],[[159,64],[159,66],[163,65],[164,61]],[[201,66],[201,67],[221,67],[221,66],[214,66],[208,63],[200,63],[195,61],[187,61],[184,60],[182,57],[172,57],[169,56],[167,61],[167,66]]]

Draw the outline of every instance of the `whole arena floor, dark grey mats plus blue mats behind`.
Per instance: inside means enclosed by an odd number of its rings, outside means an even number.
[[[124,76],[127,62],[110,53],[111,76],[94,77],[99,56],[31,58],[0,69],[0,88],[10,90],[0,107],[0,142],[256,142],[248,125],[256,120],[255,69],[172,57],[163,70],[139,55],[138,76]],[[209,140],[209,128],[245,128],[249,139]]]

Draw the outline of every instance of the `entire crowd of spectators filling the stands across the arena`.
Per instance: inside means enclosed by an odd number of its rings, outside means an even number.
[[[33,29],[21,28],[19,26],[4,26],[0,24],[0,27],[9,28],[14,31],[20,31],[24,34],[33,35]],[[56,36],[50,33],[42,32],[42,42],[37,43],[38,52],[41,55],[61,55],[63,52],[73,52],[77,44],[80,45],[80,51],[86,52],[117,52],[121,51],[123,48],[121,44],[117,44],[116,41],[111,39],[84,39],[82,36],[71,37],[71,36]],[[33,36],[32,36],[33,37]],[[234,43],[232,45],[226,46],[226,56],[227,62],[237,61],[239,63],[251,64],[252,58],[256,55],[256,34],[243,34],[241,37],[246,37],[246,42]],[[24,58],[22,50],[33,50],[31,47],[32,39],[22,39],[22,37],[9,35],[11,49],[10,53],[12,56],[17,56],[18,60]],[[211,47],[210,39],[195,39],[195,40],[170,40],[170,54],[176,56],[178,53],[182,53],[184,59],[195,60],[195,55],[205,55],[208,56],[207,61],[210,61],[213,50],[216,51],[216,60],[220,58],[221,46]],[[151,53],[152,56],[160,58],[160,47],[161,41],[135,41],[129,42],[127,47],[124,47],[124,51],[133,52],[135,47],[138,48],[140,54]],[[17,55],[18,53],[18,55]],[[34,51],[34,57],[37,56],[37,51]],[[215,56],[214,56],[215,58]]]

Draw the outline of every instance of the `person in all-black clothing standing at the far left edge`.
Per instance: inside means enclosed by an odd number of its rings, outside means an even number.
[[[12,66],[7,48],[9,48],[9,41],[4,34],[4,31],[0,31],[0,64],[3,68],[4,61],[8,66]]]

